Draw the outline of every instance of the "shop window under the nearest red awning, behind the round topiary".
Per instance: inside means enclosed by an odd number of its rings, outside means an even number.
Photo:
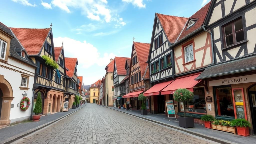
[[[194,98],[193,101],[188,101],[186,104],[180,102],[179,110],[181,112],[191,112],[191,113],[201,113],[206,114],[206,100],[205,100],[205,89],[194,88]]]

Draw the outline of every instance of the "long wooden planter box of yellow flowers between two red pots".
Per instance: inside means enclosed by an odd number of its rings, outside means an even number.
[[[218,120],[215,119],[211,122],[211,129],[216,129],[216,130],[221,130],[221,131],[226,131],[226,132],[231,132],[236,134],[237,130],[234,127],[230,126],[231,121],[229,120]]]

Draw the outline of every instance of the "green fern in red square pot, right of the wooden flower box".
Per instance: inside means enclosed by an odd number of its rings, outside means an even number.
[[[234,119],[231,121],[230,126],[237,128],[237,134],[239,136],[250,136],[249,128],[251,124],[246,119]]]

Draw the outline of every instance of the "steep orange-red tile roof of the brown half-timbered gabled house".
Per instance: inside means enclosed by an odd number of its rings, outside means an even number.
[[[147,61],[148,54],[149,54],[150,44],[133,42],[133,45],[135,47],[138,62],[140,64],[141,75],[144,76],[146,68],[148,66],[146,61]],[[144,78],[149,78],[149,70],[148,69],[146,71]]]

